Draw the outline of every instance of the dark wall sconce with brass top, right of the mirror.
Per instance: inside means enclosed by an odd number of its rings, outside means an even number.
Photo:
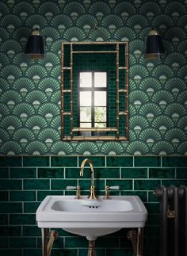
[[[147,36],[146,42],[146,59],[156,59],[160,55],[165,54],[162,37],[159,35],[158,31],[151,29]]]

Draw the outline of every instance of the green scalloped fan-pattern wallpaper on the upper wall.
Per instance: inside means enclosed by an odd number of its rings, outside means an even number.
[[[38,61],[24,54],[35,27],[46,41]],[[154,61],[143,55],[152,27],[167,52]],[[62,142],[60,44],[99,40],[129,41],[129,141]],[[187,155],[186,82],[186,0],[1,0],[1,155]]]

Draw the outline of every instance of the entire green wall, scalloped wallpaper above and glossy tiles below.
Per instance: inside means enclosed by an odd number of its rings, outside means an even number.
[[[48,194],[67,194],[66,185],[79,182],[87,194],[90,181],[78,176],[80,155],[95,155],[97,193],[105,184],[120,185],[121,195],[141,197],[149,213],[145,255],[158,256],[152,192],[159,185],[187,185],[186,157],[178,156],[187,152],[186,10],[186,1],[169,0],[1,1],[0,255],[41,255],[36,208]],[[24,49],[36,25],[46,38],[46,57],[35,62]],[[161,32],[167,54],[147,61],[144,41],[152,27]],[[59,53],[61,42],[70,40],[129,41],[129,142],[60,141]],[[59,234],[53,256],[86,255],[85,238]],[[126,234],[98,239],[97,255],[132,256]]]

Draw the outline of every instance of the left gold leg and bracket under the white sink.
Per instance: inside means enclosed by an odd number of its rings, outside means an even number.
[[[55,230],[49,231],[49,241],[47,242],[47,228],[42,228],[42,256],[49,256],[52,251],[53,243],[59,237]]]

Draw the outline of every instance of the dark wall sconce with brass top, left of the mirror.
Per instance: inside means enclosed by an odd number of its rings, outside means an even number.
[[[31,36],[29,36],[25,47],[25,54],[28,54],[32,59],[44,58],[44,40],[40,36],[38,29],[33,30]]]

